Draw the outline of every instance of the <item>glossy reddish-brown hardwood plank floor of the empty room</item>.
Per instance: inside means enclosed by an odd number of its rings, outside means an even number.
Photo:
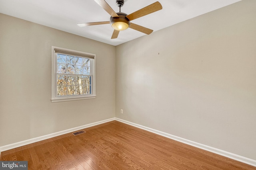
[[[224,156],[111,121],[1,152],[29,170],[256,170]]]

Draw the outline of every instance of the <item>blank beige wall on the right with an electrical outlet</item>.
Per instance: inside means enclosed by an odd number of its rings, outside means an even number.
[[[255,7],[243,0],[118,45],[116,117],[256,160]]]

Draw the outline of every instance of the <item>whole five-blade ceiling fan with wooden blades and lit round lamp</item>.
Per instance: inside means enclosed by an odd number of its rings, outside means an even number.
[[[131,23],[130,21],[140,18],[142,16],[146,16],[158,10],[162,10],[162,5],[160,2],[155,2],[149,6],[146,6],[132,14],[125,14],[121,12],[121,7],[124,5],[124,0],[116,0],[116,5],[119,7],[119,12],[115,12],[105,0],[94,0],[97,2],[108,14],[110,14],[110,21],[102,21],[102,22],[89,22],[89,23],[78,23],[77,25],[80,27],[90,26],[90,25],[101,25],[108,24],[114,28],[114,32],[112,34],[111,39],[115,39],[118,37],[119,31],[125,30],[127,28],[132,28],[142,33],[150,34],[153,32],[152,29],[148,29],[146,27],[142,27],[135,23]]]

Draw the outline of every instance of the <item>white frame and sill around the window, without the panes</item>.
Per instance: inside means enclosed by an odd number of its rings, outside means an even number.
[[[84,95],[72,95],[72,96],[57,96],[57,77],[56,77],[56,68],[57,68],[57,52],[56,51],[63,51],[63,53],[71,53],[74,56],[89,56],[91,61],[91,94],[84,94]],[[84,100],[84,99],[93,99],[96,98],[96,74],[95,74],[95,60],[96,55],[91,53],[85,53],[82,51],[76,51],[71,49],[65,49],[62,47],[55,47],[52,46],[52,102],[64,102],[64,101],[71,101],[71,100]]]

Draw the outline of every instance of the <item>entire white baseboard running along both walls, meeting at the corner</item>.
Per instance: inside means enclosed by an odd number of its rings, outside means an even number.
[[[95,123],[90,123],[90,124],[87,124],[87,125],[82,125],[82,126],[79,126],[79,127],[74,127],[74,128],[67,129],[67,130],[64,130],[64,131],[59,131],[59,132],[56,132],[56,133],[51,133],[49,135],[44,135],[44,136],[41,136],[41,137],[36,137],[36,138],[28,139],[26,141],[20,141],[20,142],[17,142],[17,143],[12,143],[12,144],[9,144],[9,145],[5,145],[5,146],[0,147],[0,154],[1,154],[1,152],[6,151],[6,150],[14,149],[14,148],[17,148],[17,147],[22,147],[24,145],[28,145],[28,144],[31,144],[31,143],[43,141],[45,139],[50,139],[52,137],[64,135],[66,133],[71,133],[71,132],[78,131],[78,130],[81,130],[81,129],[85,129],[85,128],[88,128],[88,127],[100,125],[102,123],[107,123],[107,122],[113,121],[113,120],[120,121],[122,123],[126,123],[128,125],[132,125],[134,127],[138,127],[140,129],[144,129],[146,131],[155,133],[157,135],[161,135],[161,136],[167,137],[169,139],[173,139],[175,141],[182,142],[182,143],[185,143],[187,145],[191,145],[193,147],[197,147],[197,148],[200,148],[200,149],[203,149],[203,150],[207,150],[209,152],[213,152],[213,153],[216,153],[216,154],[219,154],[219,155],[222,155],[222,156],[225,156],[225,157],[237,160],[239,162],[243,162],[245,164],[249,164],[249,165],[252,165],[252,166],[256,167],[256,160],[253,160],[253,159],[250,159],[250,158],[246,158],[244,156],[240,156],[240,155],[233,154],[233,153],[230,153],[230,152],[226,152],[224,150],[220,150],[220,149],[216,149],[216,148],[213,148],[213,147],[209,147],[207,145],[203,145],[203,144],[200,144],[200,143],[197,143],[197,142],[194,142],[194,141],[190,141],[190,140],[187,140],[187,139],[184,139],[184,138],[181,138],[181,137],[170,135],[168,133],[152,129],[150,127],[145,127],[145,126],[142,126],[142,125],[138,125],[136,123],[132,123],[132,122],[129,122],[129,121],[126,121],[126,120],[123,120],[123,119],[119,119],[119,118],[106,119],[106,120],[103,120],[103,121],[98,121],[98,122],[95,122]]]

